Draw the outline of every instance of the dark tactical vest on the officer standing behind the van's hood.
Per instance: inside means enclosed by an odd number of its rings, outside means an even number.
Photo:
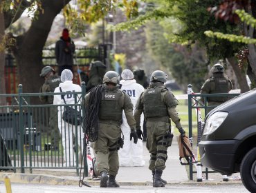
[[[210,79],[211,92],[210,94],[228,93],[229,92],[229,80],[226,77],[217,77]],[[209,102],[225,102],[228,101],[227,96],[209,97]]]

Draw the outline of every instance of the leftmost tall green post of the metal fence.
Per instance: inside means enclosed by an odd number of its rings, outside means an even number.
[[[22,110],[22,85],[19,84],[19,150],[21,152],[21,173],[25,173],[24,169],[24,120],[23,120],[23,110]]]

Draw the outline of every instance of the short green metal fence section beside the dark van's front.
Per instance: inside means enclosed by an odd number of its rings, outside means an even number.
[[[198,145],[198,143],[201,141],[201,133],[202,133],[202,123],[199,121],[199,114],[201,113],[201,118],[204,120],[207,111],[216,108],[216,105],[208,105],[207,101],[211,97],[223,97],[228,96],[228,99],[232,99],[235,96],[238,96],[240,93],[233,93],[233,94],[227,94],[227,93],[219,93],[219,94],[188,94],[188,135],[190,139],[193,139],[194,136],[197,137],[196,143],[194,143],[194,139],[192,141],[192,145]],[[195,115],[194,115],[195,114]],[[193,125],[192,117],[196,116],[196,125]],[[194,127],[194,130],[193,130]],[[194,148],[193,148],[194,150]],[[197,152],[199,154],[199,152]],[[200,158],[199,158],[200,159]],[[204,168],[205,170],[203,173],[205,174],[205,179],[208,179],[208,174],[212,173],[214,171],[208,170],[207,167]],[[193,164],[190,163],[190,172],[189,177],[190,180],[193,180],[193,174],[196,173],[196,170],[194,170]]]

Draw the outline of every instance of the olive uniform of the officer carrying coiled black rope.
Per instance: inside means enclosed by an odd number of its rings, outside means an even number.
[[[113,94],[118,99],[117,101],[111,101],[105,97],[102,99],[98,140],[95,141],[93,148],[97,158],[96,161],[98,161],[98,164],[96,164],[98,174],[103,170],[107,170],[109,174],[116,176],[119,168],[117,142],[121,137],[122,110],[125,110],[129,126],[135,130],[135,121],[132,115],[133,105],[130,97],[118,88],[113,91],[109,91],[106,88],[105,92],[105,96]],[[88,105],[89,97],[90,93],[86,94],[84,100],[86,106]]]

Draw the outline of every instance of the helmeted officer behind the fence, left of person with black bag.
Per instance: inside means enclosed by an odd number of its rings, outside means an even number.
[[[44,78],[44,84],[40,88],[40,92],[54,92],[55,88],[60,84],[60,77],[55,75],[55,70],[51,66],[45,66],[41,70],[40,77]],[[51,96],[39,96],[40,101],[46,104],[53,104],[53,95]],[[57,125],[57,108],[51,107],[50,117],[49,117],[49,126],[51,129],[51,149],[57,150],[59,141],[60,141],[60,132]]]

